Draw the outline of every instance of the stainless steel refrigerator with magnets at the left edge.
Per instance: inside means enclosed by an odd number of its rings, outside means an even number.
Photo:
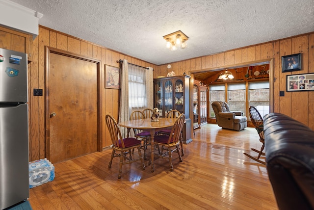
[[[29,197],[27,91],[26,54],[0,49],[0,210]]]

